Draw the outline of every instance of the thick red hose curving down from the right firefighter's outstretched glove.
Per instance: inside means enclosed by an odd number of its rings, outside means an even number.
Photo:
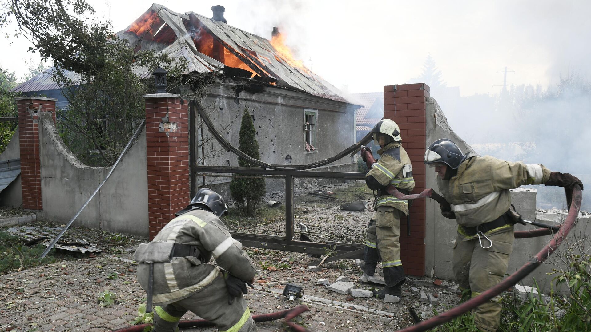
[[[547,259],[551,253],[554,252],[560,246],[563,239],[569,235],[570,230],[574,226],[574,222],[577,219],[577,215],[579,214],[579,209],[581,207],[581,200],[582,200],[582,193],[581,187],[579,185],[574,185],[573,191],[569,192],[565,189],[567,202],[569,202],[569,214],[566,216],[566,220],[560,226],[560,230],[558,233],[554,235],[550,243],[544,247],[544,249],[540,250],[540,252],[535,255],[531,261],[525,263],[521,268],[514,272],[514,274],[508,276],[503,281],[499,282],[495,287],[488,289],[488,291],[483,292],[482,294],[478,295],[475,298],[472,298],[469,301],[464,302],[463,304],[454,307],[445,313],[441,313],[435,317],[431,317],[426,321],[422,321],[416,325],[404,328],[398,332],[420,332],[424,330],[428,330],[429,328],[436,327],[440,324],[445,323],[446,321],[452,320],[462,314],[467,313],[468,311],[472,310],[472,308],[478,307],[480,304],[483,304],[486,301],[491,300],[496,295],[501,294],[503,291],[512,287],[513,285],[517,284],[519,280],[524,278],[524,276],[530,274],[534,271],[535,268],[538,267],[541,263]],[[546,235],[546,232],[550,232],[548,229],[535,229],[530,231],[523,231],[523,232],[515,232],[515,237],[518,237],[518,233],[521,233],[519,237],[533,237],[533,236],[541,236]],[[523,235],[523,236],[521,236]]]

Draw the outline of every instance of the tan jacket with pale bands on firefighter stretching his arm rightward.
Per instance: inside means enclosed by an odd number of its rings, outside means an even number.
[[[474,227],[492,222],[509,210],[509,189],[542,184],[549,177],[550,170],[544,165],[471,154],[450,180],[437,177],[437,185],[456,214],[457,223]]]

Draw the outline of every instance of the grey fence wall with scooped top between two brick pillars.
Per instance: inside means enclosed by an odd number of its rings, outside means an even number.
[[[40,116],[41,196],[44,217],[66,223],[96,190],[110,168],[88,167],[63,144],[49,113]],[[77,226],[148,235],[145,131],[99,193],[77,217]]]

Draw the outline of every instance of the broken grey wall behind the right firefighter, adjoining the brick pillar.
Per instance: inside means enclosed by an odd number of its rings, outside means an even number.
[[[432,97],[427,98],[426,115],[427,138],[425,149],[427,149],[428,145],[437,139],[449,138],[456,142],[458,147],[462,149],[463,152],[475,152],[472,147],[470,147],[470,145],[466,144],[462,138],[453,132],[452,128],[450,128],[449,124],[447,123],[445,115],[441,111],[436,100]],[[434,188],[434,190],[439,191],[439,187],[437,187],[436,182],[437,175],[433,168],[427,168],[426,173],[426,187]],[[514,204],[515,209],[521,213],[525,220],[537,219],[538,222],[546,222],[544,217],[545,219],[554,218],[558,220],[557,215],[552,213],[547,213],[547,216],[540,216],[540,213],[538,213],[538,216],[536,216],[535,194],[535,188],[517,188],[515,190],[511,190],[512,204]],[[439,203],[431,199],[427,199],[426,203],[426,275],[436,276],[437,278],[442,279],[454,279],[452,256],[453,245],[455,243],[457,234],[457,224],[455,220],[446,219],[441,216]],[[588,217],[589,216],[587,216],[587,220]],[[580,217],[579,226],[586,226],[587,220],[581,222]],[[579,234],[581,236],[586,235],[589,237],[591,234],[589,233],[589,230],[584,230],[585,228],[586,227],[576,227],[574,234]],[[522,226],[521,224],[515,225],[515,230],[526,229],[532,229],[532,226]],[[571,238],[572,236],[569,236],[569,239]],[[550,239],[551,236],[533,237],[529,239],[515,239],[513,253],[509,261],[507,274],[512,274],[513,272],[517,271],[518,268],[524,265],[524,263],[530,261],[532,256],[544,248]],[[564,248],[561,248],[561,250],[564,250]],[[552,268],[556,268],[556,266],[551,264],[542,264],[534,272],[532,272],[532,274],[526,276],[522,280],[522,284],[532,286],[534,285],[535,279],[535,281],[538,282],[540,288],[544,289],[544,292],[549,291],[551,284],[549,281],[551,281],[553,276],[548,276],[546,273],[551,272]]]

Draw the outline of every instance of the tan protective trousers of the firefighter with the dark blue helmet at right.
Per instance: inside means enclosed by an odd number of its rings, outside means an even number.
[[[454,276],[460,288],[472,291],[472,297],[502,281],[513,250],[513,229],[487,237],[480,236],[480,241],[478,236],[466,240],[466,237],[458,234],[453,247]],[[472,311],[476,327],[481,331],[495,332],[501,320],[501,307],[501,297],[498,295],[476,307]]]

